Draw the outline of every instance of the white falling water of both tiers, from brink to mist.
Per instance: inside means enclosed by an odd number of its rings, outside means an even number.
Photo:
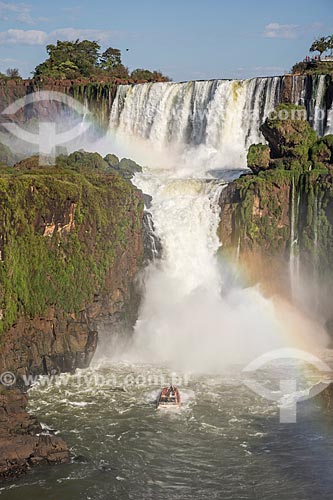
[[[228,168],[243,168],[248,146],[263,141],[259,126],[280,102],[282,83],[276,77],[118,89],[110,134],[126,154],[148,165],[134,182],[152,196],[163,248],[146,272],[127,353],[132,359],[218,370],[285,345],[285,326],[272,303],[255,289],[228,283],[216,234],[221,179]]]

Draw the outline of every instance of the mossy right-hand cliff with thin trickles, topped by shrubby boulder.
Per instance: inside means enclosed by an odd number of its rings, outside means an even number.
[[[248,152],[255,175],[222,191],[223,251],[244,265],[249,283],[285,296],[303,288],[310,311],[331,322],[333,136],[318,138],[298,106],[275,111],[261,127],[268,145]]]

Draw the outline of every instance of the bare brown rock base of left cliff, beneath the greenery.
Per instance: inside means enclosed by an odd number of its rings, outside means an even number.
[[[0,351],[0,371],[13,372],[24,386],[29,376],[86,368],[96,345],[97,327],[86,311],[66,316],[52,307],[44,317],[20,318],[9,330]]]

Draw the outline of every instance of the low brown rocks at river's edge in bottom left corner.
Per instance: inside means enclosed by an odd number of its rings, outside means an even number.
[[[36,464],[67,463],[69,450],[58,436],[42,434],[37,419],[26,411],[27,396],[0,391],[0,479],[17,477]]]

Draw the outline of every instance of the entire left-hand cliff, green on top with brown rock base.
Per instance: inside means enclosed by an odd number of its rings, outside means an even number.
[[[0,372],[87,366],[96,319],[130,321],[142,196],[114,174],[15,170],[0,176]]]

